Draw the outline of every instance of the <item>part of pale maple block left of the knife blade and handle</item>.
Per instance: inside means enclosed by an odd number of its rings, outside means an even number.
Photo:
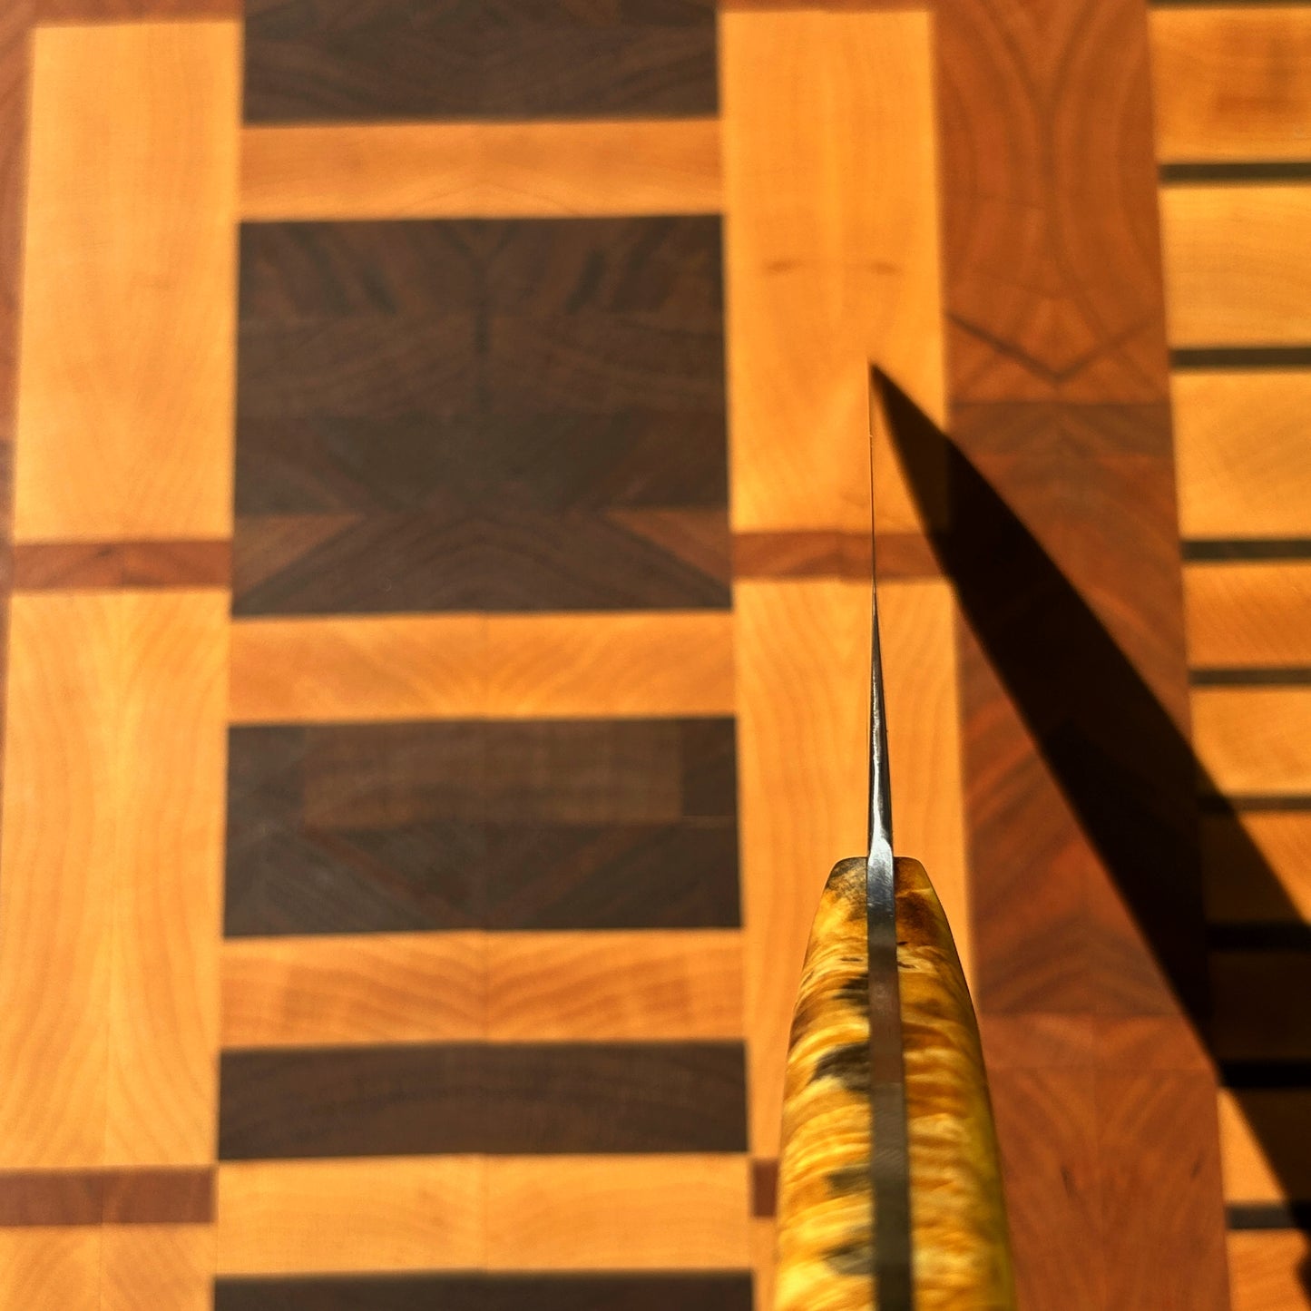
[[[810,920],[865,842],[869,586],[739,582],[735,619],[750,1143],[771,1158]]]

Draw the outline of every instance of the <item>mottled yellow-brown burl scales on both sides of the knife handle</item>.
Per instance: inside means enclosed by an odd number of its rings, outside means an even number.
[[[865,861],[829,876],[784,1088],[775,1311],[873,1311]],[[1013,1311],[992,1109],[969,988],[918,860],[897,860],[915,1311]]]

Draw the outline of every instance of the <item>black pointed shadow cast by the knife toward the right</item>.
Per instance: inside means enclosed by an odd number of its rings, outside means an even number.
[[[1201,905],[1200,794],[1209,813],[1232,821],[1224,877],[1270,907],[1272,920],[1290,924],[1299,915],[1277,874],[1168,711],[1041,543],[961,448],[877,368],[873,385],[961,611],[1201,1044],[1231,1087],[1301,1084],[1298,1065],[1282,1071],[1257,1062],[1226,1066],[1217,1050]],[[1301,926],[1291,924],[1291,932],[1304,945]],[[1242,1101],[1242,1091],[1236,1096]],[[1283,1196],[1301,1202],[1274,1215],[1264,1209],[1265,1219],[1256,1223],[1307,1228],[1311,1207],[1297,1190],[1311,1176],[1311,1134],[1289,1124],[1290,1117],[1272,1120],[1260,1099],[1243,1105]],[[1301,1273],[1311,1287],[1311,1262]]]

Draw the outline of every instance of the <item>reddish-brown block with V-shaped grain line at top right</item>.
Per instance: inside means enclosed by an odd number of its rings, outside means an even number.
[[[937,31],[953,401],[1162,400],[1142,0],[969,0]]]

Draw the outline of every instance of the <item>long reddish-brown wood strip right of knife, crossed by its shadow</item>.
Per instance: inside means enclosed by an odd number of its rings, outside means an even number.
[[[953,435],[1186,730],[1145,0],[960,0],[937,30]],[[1050,621],[1041,586],[998,572],[998,606]],[[1050,712],[1059,671],[1027,676]],[[975,1000],[1020,1303],[1221,1311],[1214,1076],[1196,1044],[1145,1066],[1138,1028],[1186,1032],[1177,1003],[969,632],[961,679]],[[1084,703],[1067,726],[1088,721]],[[1151,804],[1186,827],[1184,753],[1162,746],[1159,773]],[[1197,882],[1176,928],[1196,928],[1200,966]]]

